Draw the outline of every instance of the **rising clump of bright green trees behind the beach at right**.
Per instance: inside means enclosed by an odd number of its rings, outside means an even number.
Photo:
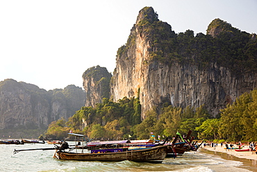
[[[204,121],[197,127],[200,139],[228,141],[257,140],[257,90],[244,93],[233,104],[221,109],[221,118]]]

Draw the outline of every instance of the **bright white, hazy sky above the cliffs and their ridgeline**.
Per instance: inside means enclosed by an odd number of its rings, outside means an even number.
[[[113,72],[117,49],[145,6],[175,33],[206,34],[216,18],[257,33],[257,0],[0,0],[0,81],[83,88],[88,68]]]

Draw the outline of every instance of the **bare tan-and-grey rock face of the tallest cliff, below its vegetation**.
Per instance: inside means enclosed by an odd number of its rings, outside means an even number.
[[[116,68],[110,82],[110,96],[114,101],[140,95],[142,118],[149,109],[163,102],[176,107],[205,104],[210,114],[216,116],[219,109],[256,87],[256,73],[234,75],[217,63],[201,69],[190,63],[153,60],[151,56],[158,47],[154,46],[154,32],[147,28],[147,23],[153,22],[161,22],[153,8],[140,10],[128,42],[117,52]],[[172,33],[169,24],[161,24]],[[216,36],[219,31],[222,31],[219,27],[210,29],[208,34]]]

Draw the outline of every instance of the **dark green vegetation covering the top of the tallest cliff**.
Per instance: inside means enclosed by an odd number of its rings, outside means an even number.
[[[174,62],[190,63],[199,68],[208,68],[217,63],[231,70],[234,75],[257,70],[256,34],[240,31],[221,19],[214,19],[209,24],[206,35],[197,33],[194,36],[191,30],[174,33],[169,24],[158,19],[153,8],[145,7],[140,10],[131,36],[126,45],[118,50],[117,56],[126,56],[137,34],[144,36],[150,43],[152,61],[158,60],[170,65]]]

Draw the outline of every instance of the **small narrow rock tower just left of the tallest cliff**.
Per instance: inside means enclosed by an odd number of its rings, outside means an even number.
[[[83,87],[86,94],[85,107],[94,107],[103,98],[110,98],[110,78],[112,75],[99,65],[83,73]]]

